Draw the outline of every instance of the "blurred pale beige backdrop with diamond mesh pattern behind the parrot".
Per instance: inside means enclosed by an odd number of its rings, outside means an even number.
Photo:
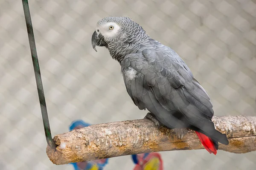
[[[209,94],[216,116],[256,116],[256,0],[29,0],[52,136],[73,120],[142,119],[119,63],[91,46],[103,17],[126,16],[173,48]],[[0,0],[0,169],[73,170],[46,155],[21,0]],[[256,152],[160,152],[164,170],[255,170]],[[105,170],[132,170],[131,156]]]

